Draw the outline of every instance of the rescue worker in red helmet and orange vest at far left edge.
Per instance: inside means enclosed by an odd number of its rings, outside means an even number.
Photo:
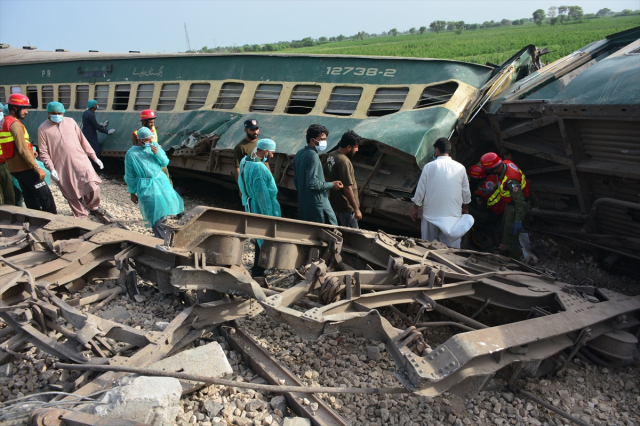
[[[56,214],[56,203],[49,186],[44,181],[46,173],[36,163],[29,133],[20,122],[29,111],[29,98],[20,93],[9,96],[9,116],[5,117],[0,132],[2,155],[9,171],[20,183],[27,208]]]

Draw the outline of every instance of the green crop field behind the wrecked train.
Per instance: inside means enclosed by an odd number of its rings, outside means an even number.
[[[320,46],[288,49],[283,53],[316,53],[330,55],[405,56],[454,59],[484,64],[499,64],[524,46],[533,44],[552,53],[544,60],[566,56],[609,34],[640,26],[640,16],[601,18],[564,25],[535,24],[507,26],[440,34],[374,37],[358,41],[342,41]]]

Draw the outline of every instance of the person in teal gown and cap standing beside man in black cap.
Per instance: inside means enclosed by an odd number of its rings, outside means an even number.
[[[255,155],[247,155],[240,161],[238,186],[242,192],[242,205],[248,213],[281,217],[278,203],[278,187],[269,169],[269,159],[273,157],[276,143],[271,139],[260,139],[256,144]],[[263,240],[255,241],[255,257],[252,276],[264,274],[264,268],[258,266],[260,247]]]

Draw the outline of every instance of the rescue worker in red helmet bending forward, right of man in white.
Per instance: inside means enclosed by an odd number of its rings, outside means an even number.
[[[491,195],[487,200],[487,207],[505,203],[502,216],[502,245],[501,251],[511,258],[522,260],[520,248],[520,232],[522,221],[529,210],[529,184],[522,170],[509,160],[502,161],[495,152],[488,152],[480,158],[480,165],[487,173],[498,177],[497,184],[488,189]],[[497,189],[493,189],[497,186]],[[493,191],[493,192],[492,192]]]

